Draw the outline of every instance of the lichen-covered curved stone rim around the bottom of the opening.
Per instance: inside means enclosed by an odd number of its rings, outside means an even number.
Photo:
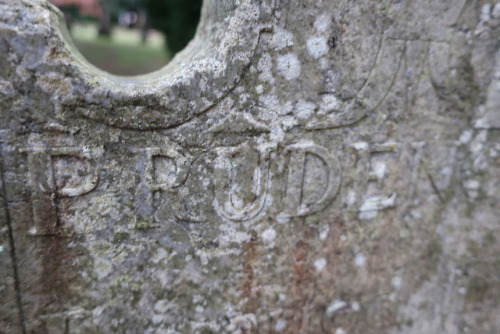
[[[91,65],[71,41],[60,12],[52,8],[52,23],[59,29],[50,37],[63,47],[54,57],[67,64],[66,71],[73,75],[71,94],[54,92],[62,106],[57,118],[64,121],[76,112],[134,130],[167,129],[195,118],[222,100],[244,76],[261,32],[270,29],[270,18],[263,10],[266,2],[205,0],[191,43],[163,69],[136,77],[111,75]]]

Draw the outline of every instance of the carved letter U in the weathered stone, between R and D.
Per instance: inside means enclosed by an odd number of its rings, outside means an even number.
[[[268,201],[268,193],[271,186],[270,164],[271,147],[259,147],[259,162],[253,175],[253,189],[256,199],[243,208],[238,208],[234,190],[239,185],[233,183],[234,174],[238,173],[238,164],[231,160],[238,152],[250,150],[248,145],[240,147],[229,147],[216,149],[214,178],[215,178],[215,211],[225,219],[231,221],[248,221],[257,217],[265,208]],[[229,175],[228,175],[229,174]]]

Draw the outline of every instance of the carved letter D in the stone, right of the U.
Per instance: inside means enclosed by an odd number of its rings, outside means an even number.
[[[333,157],[324,147],[309,143],[291,145],[286,148],[284,153],[291,156],[288,164],[284,209],[277,219],[288,220],[293,217],[305,217],[324,210],[337,196],[340,188],[342,171],[338,159]],[[312,203],[304,203],[302,198],[307,154],[315,155],[323,161],[328,178],[322,196]]]

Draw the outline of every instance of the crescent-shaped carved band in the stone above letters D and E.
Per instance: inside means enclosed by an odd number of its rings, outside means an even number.
[[[400,72],[405,54],[405,41],[384,39],[375,65],[356,97],[341,103],[325,114],[316,115],[305,126],[307,130],[326,130],[356,124],[378,109],[386,100]],[[388,68],[396,68],[388,72]],[[332,94],[334,97],[335,93]],[[343,110],[342,110],[343,109]]]

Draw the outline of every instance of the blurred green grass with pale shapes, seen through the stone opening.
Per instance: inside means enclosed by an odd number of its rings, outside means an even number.
[[[150,31],[145,44],[139,30],[114,27],[109,38],[99,37],[93,23],[76,23],[71,27],[73,40],[92,64],[123,76],[145,74],[165,66],[170,55],[161,33]]]

